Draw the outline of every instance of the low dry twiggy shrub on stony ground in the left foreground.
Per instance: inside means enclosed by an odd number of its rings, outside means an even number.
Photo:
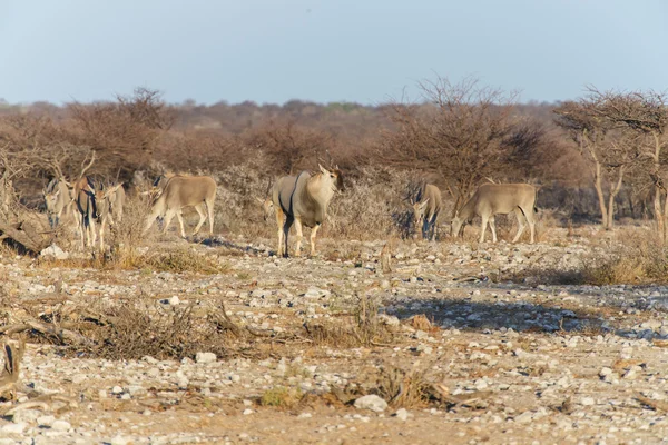
[[[69,346],[77,355],[107,359],[195,357],[198,352],[227,356],[228,333],[213,320],[196,317],[193,306],[164,307],[159,303],[124,301],[100,307],[97,324],[81,333],[92,342]]]

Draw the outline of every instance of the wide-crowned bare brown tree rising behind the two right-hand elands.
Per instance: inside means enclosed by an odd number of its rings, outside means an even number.
[[[436,172],[456,211],[477,185],[498,174],[509,152],[515,95],[468,78],[420,83],[428,106],[392,103],[394,129],[384,132],[379,156],[390,165]]]

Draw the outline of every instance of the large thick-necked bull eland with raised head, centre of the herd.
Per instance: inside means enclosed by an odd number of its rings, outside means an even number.
[[[278,256],[287,257],[287,236],[295,225],[297,244],[295,256],[301,255],[302,226],[311,228],[311,256],[315,255],[315,236],[325,217],[334,194],[345,189],[343,175],[338,168],[326,169],[318,164],[320,171],[298,176],[284,176],[272,190],[272,201],[278,225]]]

